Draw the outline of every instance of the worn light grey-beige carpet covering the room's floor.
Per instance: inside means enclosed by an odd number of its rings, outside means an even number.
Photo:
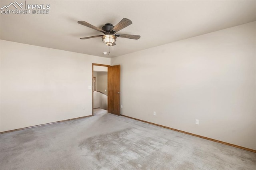
[[[1,170],[255,170],[256,153],[106,113],[0,135]]]

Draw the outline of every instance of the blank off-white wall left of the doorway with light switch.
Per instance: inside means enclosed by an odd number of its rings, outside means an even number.
[[[1,132],[92,115],[92,63],[110,59],[0,43]]]

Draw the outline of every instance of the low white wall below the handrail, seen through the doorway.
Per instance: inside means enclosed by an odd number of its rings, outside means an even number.
[[[100,91],[93,92],[93,108],[108,110],[108,96]]]

